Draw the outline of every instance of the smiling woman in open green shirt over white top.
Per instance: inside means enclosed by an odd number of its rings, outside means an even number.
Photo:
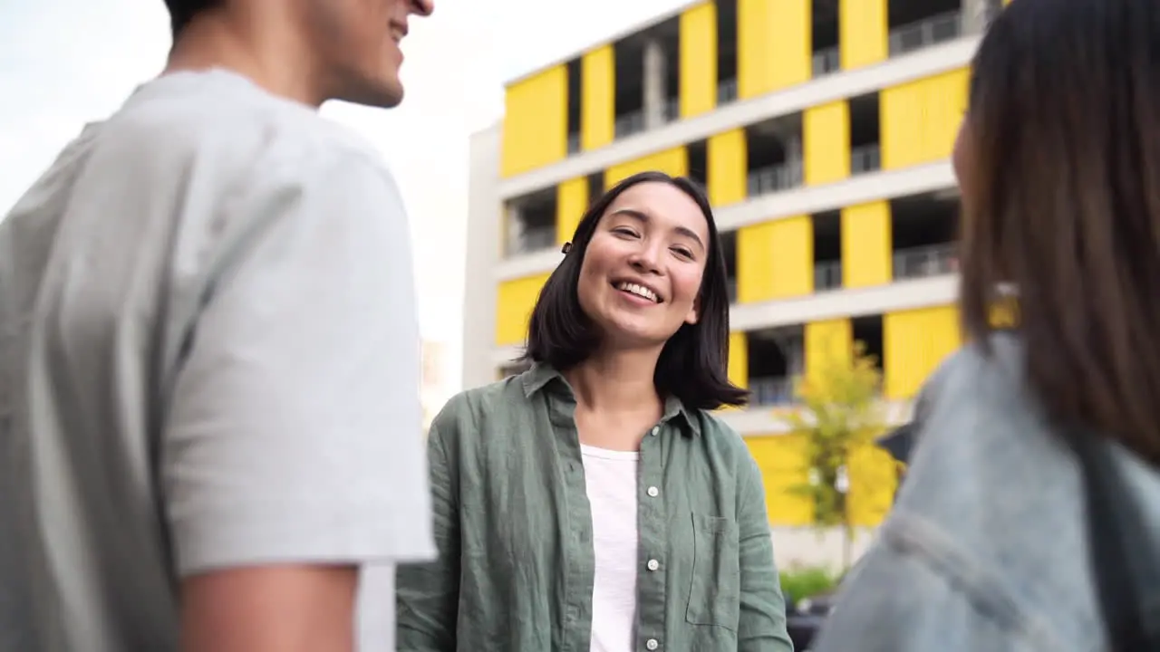
[[[440,557],[399,570],[399,650],[792,650],[761,473],[706,412],[746,399],[709,202],[637,174],[565,249],[531,369],[432,425]]]

